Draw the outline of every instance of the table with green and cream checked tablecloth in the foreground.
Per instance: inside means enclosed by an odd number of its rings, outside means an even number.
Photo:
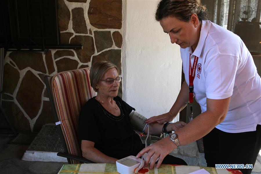
[[[242,174],[238,170],[233,169],[216,169],[212,167],[201,166],[182,166],[162,164],[160,168],[149,170],[145,174],[188,174],[193,171],[204,168],[211,174]],[[58,174],[117,174],[116,164],[64,164]]]

